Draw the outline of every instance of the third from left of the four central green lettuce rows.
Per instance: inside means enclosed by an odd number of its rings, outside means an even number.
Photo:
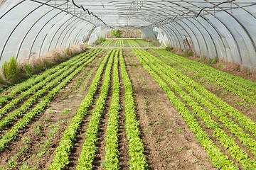
[[[121,109],[119,105],[119,72],[118,72],[118,53],[114,56],[114,68],[113,68],[113,95],[110,106],[110,118],[107,125],[107,137],[105,147],[105,169],[106,170],[118,170],[119,167],[119,151],[118,151],[118,128],[119,128],[119,111]]]

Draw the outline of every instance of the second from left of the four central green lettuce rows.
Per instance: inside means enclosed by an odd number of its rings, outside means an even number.
[[[96,144],[97,144],[97,135],[98,130],[100,128],[100,118],[102,117],[102,113],[105,110],[105,105],[107,101],[108,92],[110,90],[110,81],[111,81],[111,70],[114,59],[114,52],[110,55],[110,60],[107,63],[107,68],[105,71],[105,77],[102,84],[102,90],[100,92],[100,97],[97,99],[96,108],[92,112],[92,118],[90,119],[90,123],[87,128],[87,132],[85,134],[85,143],[82,146],[82,152],[80,154],[80,158],[78,159],[78,166],[76,167],[78,170],[80,169],[92,169],[92,162],[95,157],[96,152]]]

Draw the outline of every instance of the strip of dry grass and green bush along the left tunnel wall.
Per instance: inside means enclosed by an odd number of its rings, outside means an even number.
[[[56,49],[49,52],[42,57],[37,57],[34,52],[28,57],[27,60],[18,61],[16,57],[11,57],[9,61],[4,62],[0,72],[0,93],[18,84],[21,81],[25,81],[28,78],[33,77],[35,74],[44,72],[46,69],[50,69],[56,64],[60,64],[69,60],[71,57],[85,52],[87,48],[84,45],[74,45],[67,49]]]

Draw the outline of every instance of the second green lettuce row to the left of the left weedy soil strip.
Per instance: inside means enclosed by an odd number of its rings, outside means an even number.
[[[0,120],[0,130],[3,130],[4,127],[6,127],[6,125],[9,125],[9,123],[11,123],[12,120],[17,118],[18,116],[22,116],[24,113],[26,113],[28,108],[33,106],[33,104],[36,103],[38,98],[40,98],[44,94],[47,94],[50,89],[53,89],[53,87],[56,86],[57,84],[59,84],[63,79],[65,79],[65,77],[68,77],[68,75],[71,74],[75,69],[77,69],[80,66],[80,64],[82,64],[84,62],[85,62],[85,64],[89,64],[101,52],[102,52],[102,50],[98,50],[98,52],[92,53],[88,57],[83,58],[82,61],[75,64],[73,67],[70,67],[70,69],[66,68],[66,69],[68,69],[66,72],[61,74],[59,77],[56,77],[53,81],[51,81],[49,84],[47,84],[47,86],[45,86],[43,89],[37,91],[36,94],[34,94],[31,98],[29,98],[28,101],[26,101],[26,103],[24,103],[16,111],[14,111],[10,115],[6,116],[5,118],[1,119]],[[92,57],[92,55],[93,55],[93,57]]]

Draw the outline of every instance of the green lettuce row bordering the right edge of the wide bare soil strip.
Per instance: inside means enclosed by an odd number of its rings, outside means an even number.
[[[176,107],[176,110],[181,114],[183,119],[186,121],[188,128],[191,129],[192,132],[195,133],[198,142],[201,143],[203,149],[206,150],[208,157],[210,157],[210,162],[213,163],[218,169],[237,169],[233,162],[228,159],[227,156],[221,152],[221,150],[215,146],[213,140],[210,140],[208,134],[201,128],[196,118],[194,118],[193,113],[189,111],[186,107],[185,103],[178,98],[173,91],[169,88],[168,84],[159,77],[156,72],[154,72],[151,67],[142,59],[142,57],[146,56],[146,54],[142,54],[139,50],[133,50],[134,54],[139,59],[139,62],[142,63],[144,68],[151,74],[151,76],[155,79],[155,81],[159,84],[161,89],[166,92],[167,97],[171,101],[171,103]],[[160,76],[164,76],[164,73],[159,72]]]

